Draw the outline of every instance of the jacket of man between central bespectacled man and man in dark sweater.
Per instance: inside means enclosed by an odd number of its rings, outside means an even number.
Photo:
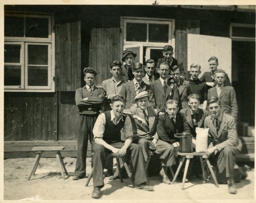
[[[188,96],[191,94],[190,82],[187,80],[180,80],[179,90],[179,108],[188,108]]]

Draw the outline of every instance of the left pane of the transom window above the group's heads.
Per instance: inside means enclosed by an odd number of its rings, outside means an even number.
[[[127,23],[126,41],[146,42],[147,41],[147,24],[145,23]]]

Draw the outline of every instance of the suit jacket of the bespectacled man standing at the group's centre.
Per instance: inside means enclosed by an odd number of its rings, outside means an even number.
[[[167,80],[166,94],[164,94],[163,85],[160,79],[151,82],[150,86],[154,94],[154,101],[158,111],[164,109],[165,101],[168,99],[179,101],[177,85],[173,84],[170,80]],[[170,93],[172,93],[171,96]]]

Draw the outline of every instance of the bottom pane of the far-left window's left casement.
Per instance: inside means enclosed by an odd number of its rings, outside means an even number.
[[[21,66],[4,66],[4,85],[21,85]]]

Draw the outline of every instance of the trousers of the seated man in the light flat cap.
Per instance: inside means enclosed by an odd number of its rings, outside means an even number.
[[[149,160],[149,147],[151,142],[151,140],[146,140],[141,137],[132,138],[132,143],[138,144],[141,147],[145,161]],[[154,152],[160,155],[162,166],[172,166],[175,164],[174,147],[171,144],[164,142],[163,140],[158,140]]]

